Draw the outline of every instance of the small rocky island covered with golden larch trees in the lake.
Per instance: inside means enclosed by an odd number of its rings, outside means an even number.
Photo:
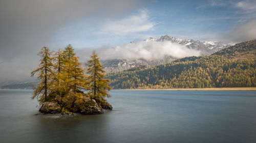
[[[40,82],[33,88],[32,99],[40,104],[41,113],[61,113],[72,116],[103,113],[103,109],[112,110],[105,97],[110,97],[109,79],[104,79],[98,55],[93,51],[84,70],[71,45],[65,50],[51,52],[43,47],[39,66],[31,72]]]

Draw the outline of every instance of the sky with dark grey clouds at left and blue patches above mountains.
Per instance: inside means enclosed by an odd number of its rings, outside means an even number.
[[[256,39],[256,1],[250,0],[0,0],[0,19],[0,85],[31,80],[42,46],[72,44],[85,62],[93,49],[129,48],[131,41],[166,34],[227,43]]]

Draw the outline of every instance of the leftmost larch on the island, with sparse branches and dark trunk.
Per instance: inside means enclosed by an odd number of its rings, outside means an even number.
[[[36,69],[31,72],[31,76],[33,77],[36,73],[38,74],[38,78],[40,82],[37,84],[36,88],[33,88],[33,96],[32,99],[39,96],[39,102],[46,102],[50,89],[52,87],[52,57],[51,52],[48,47],[42,47],[41,51],[38,53],[41,56],[40,64]]]

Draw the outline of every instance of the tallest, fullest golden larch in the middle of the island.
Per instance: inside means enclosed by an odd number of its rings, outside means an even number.
[[[62,75],[61,90],[63,95],[57,95],[56,100],[64,105],[66,109],[73,110],[77,104],[83,103],[82,99],[86,94],[82,91],[85,87],[84,71],[71,45],[63,50]]]

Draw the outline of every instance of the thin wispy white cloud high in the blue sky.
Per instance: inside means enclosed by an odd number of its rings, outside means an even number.
[[[138,15],[112,21],[106,20],[98,34],[127,35],[154,29],[155,22],[150,20],[147,10],[140,10]]]

